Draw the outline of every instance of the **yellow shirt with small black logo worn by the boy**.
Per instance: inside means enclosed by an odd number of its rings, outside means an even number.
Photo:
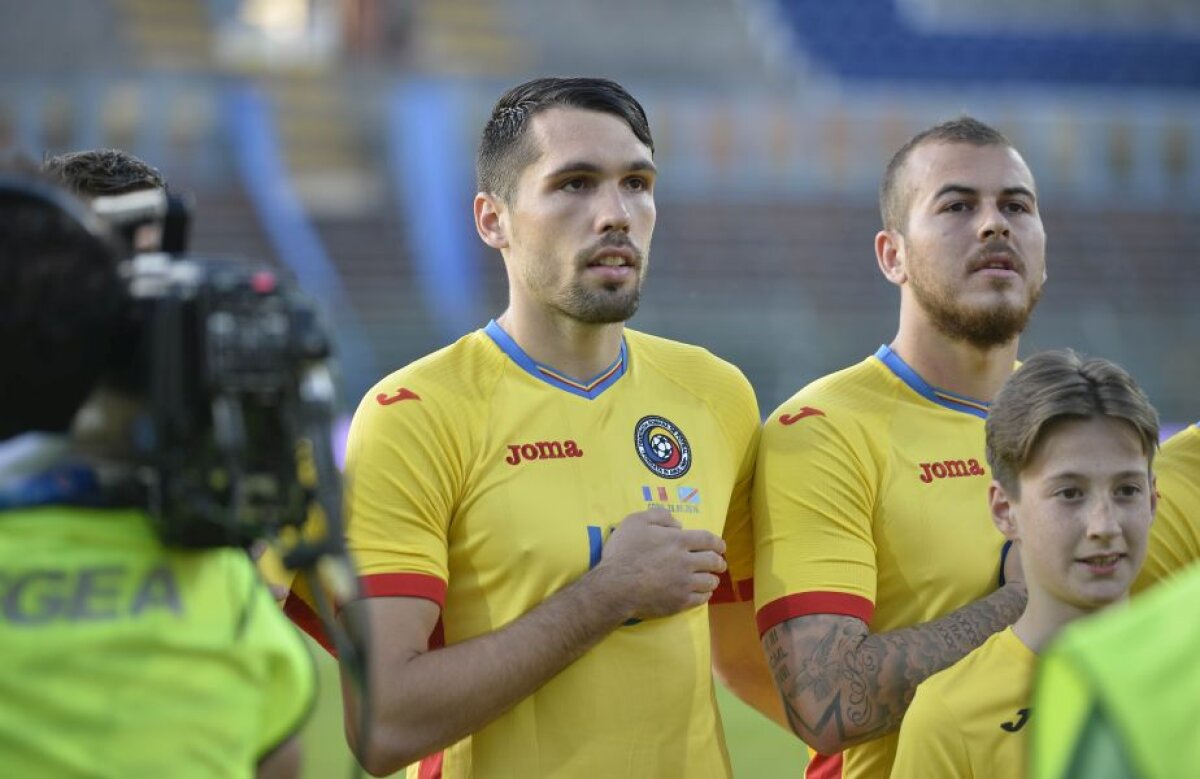
[[[1036,664],[1007,628],[925,679],[904,715],[893,779],[1024,777]]]

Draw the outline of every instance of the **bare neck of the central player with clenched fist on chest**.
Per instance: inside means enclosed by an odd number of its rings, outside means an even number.
[[[620,354],[625,324],[586,324],[563,314],[533,313],[516,306],[496,323],[530,358],[577,380],[600,373]]]

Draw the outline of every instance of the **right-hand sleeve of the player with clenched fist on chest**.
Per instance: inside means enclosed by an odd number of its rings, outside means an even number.
[[[725,516],[725,559],[728,570],[722,580],[722,589],[714,601],[754,599],[754,521],[750,511],[750,495],[754,485],[755,460],[758,455],[758,403],[754,389],[744,377],[740,379],[737,414],[731,419],[730,445],[738,461],[737,481],[730,495],[730,508]],[[727,589],[726,589],[727,586]]]

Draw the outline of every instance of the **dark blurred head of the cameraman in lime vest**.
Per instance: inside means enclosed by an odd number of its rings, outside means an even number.
[[[0,170],[0,439],[70,429],[125,322],[119,262],[82,202]]]

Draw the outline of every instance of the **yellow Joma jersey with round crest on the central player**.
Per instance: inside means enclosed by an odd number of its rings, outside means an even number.
[[[578,579],[650,507],[724,534],[721,597],[749,599],[758,424],[742,373],[697,347],[626,330],[617,361],[578,383],[493,322],[359,406],[349,546],[368,595],[442,606],[446,645]],[[618,629],[442,760],[445,777],[728,775],[707,610]]]

